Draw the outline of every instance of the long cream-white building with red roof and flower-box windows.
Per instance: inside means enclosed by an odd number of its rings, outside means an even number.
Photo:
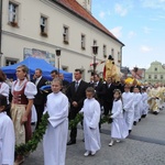
[[[46,58],[57,67],[55,51],[61,48],[59,67],[73,73],[84,69],[89,80],[91,46],[99,47],[97,61],[114,57],[121,65],[124,46],[91,15],[91,0],[1,0],[2,53],[0,65],[7,66],[26,56]],[[103,65],[97,70],[102,72]]]

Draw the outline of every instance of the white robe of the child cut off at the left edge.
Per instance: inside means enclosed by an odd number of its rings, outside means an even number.
[[[0,165],[14,163],[14,129],[11,119],[0,112]]]

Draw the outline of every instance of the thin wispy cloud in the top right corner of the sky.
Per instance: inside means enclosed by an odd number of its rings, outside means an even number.
[[[142,7],[165,10],[165,0],[141,0]]]

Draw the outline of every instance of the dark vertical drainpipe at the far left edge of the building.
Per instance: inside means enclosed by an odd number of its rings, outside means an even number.
[[[2,57],[2,0],[0,0],[0,67]]]

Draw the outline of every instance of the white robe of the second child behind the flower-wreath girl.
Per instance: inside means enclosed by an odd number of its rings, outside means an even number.
[[[139,122],[141,119],[141,108],[142,108],[142,95],[140,92],[133,94],[133,105],[134,105],[134,121]]]

